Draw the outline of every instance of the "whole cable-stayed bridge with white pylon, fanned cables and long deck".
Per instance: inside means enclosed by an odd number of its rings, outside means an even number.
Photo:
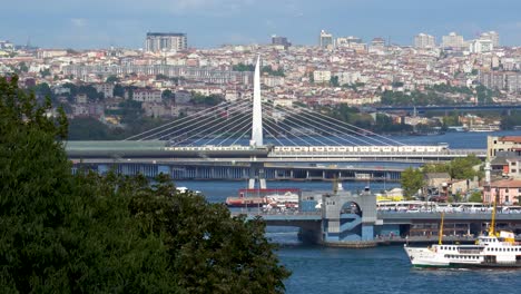
[[[260,97],[259,60],[253,101],[222,102],[108,145],[69,143],[67,151],[72,159],[98,165],[248,164],[250,178],[259,179],[266,163],[419,163],[485,156],[485,150],[451,150],[444,145],[410,146],[297,104],[274,105]]]

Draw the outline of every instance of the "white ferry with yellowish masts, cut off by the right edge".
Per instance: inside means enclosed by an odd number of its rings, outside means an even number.
[[[495,205],[486,235],[474,245],[443,244],[443,213],[439,244],[429,247],[410,247],[405,253],[416,267],[521,267],[521,244],[512,232],[495,232]]]

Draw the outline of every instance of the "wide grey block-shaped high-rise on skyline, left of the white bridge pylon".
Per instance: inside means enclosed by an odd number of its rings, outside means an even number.
[[[145,48],[147,52],[179,51],[188,48],[188,41],[186,33],[147,32]]]

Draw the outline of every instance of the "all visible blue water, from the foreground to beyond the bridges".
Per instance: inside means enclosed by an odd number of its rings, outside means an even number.
[[[427,137],[393,137],[405,144],[449,143],[451,148],[486,148],[486,136],[521,135],[521,131],[448,133]],[[209,202],[222,203],[245,188],[246,182],[177,182],[178,186],[200,190]],[[343,183],[348,190],[363,189],[367,183]],[[373,190],[396,187],[396,183],[370,183]],[[268,182],[268,187],[298,187],[331,190],[331,183]],[[296,293],[518,293],[521,271],[417,270],[402,246],[367,249],[308,246],[298,242],[292,227],[268,227],[266,236],[282,244],[282,264],[293,272],[285,281],[286,292]]]

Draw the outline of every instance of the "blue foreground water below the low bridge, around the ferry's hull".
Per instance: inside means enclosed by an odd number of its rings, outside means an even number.
[[[417,270],[402,246],[278,251],[293,271],[287,293],[519,293],[520,271]],[[518,288],[518,290],[517,290]]]

